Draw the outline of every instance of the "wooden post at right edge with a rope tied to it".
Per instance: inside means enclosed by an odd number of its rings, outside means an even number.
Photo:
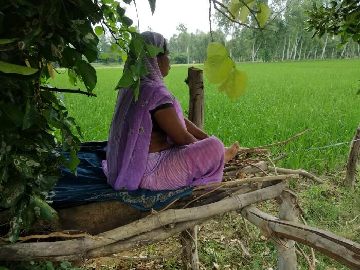
[[[354,141],[357,140],[357,141]],[[357,160],[360,155],[360,125],[355,132],[353,142],[350,146],[348,162],[346,164],[346,175],[344,180],[344,186],[346,189],[354,190],[355,188],[355,174],[357,167]]]

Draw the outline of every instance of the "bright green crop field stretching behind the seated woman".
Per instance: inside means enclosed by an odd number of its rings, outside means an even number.
[[[231,102],[205,78],[205,130],[225,145],[238,140],[253,147],[280,140],[311,128],[313,131],[290,143],[283,151],[312,148],[350,141],[360,120],[360,60],[241,63],[248,75],[246,93]],[[122,69],[98,65],[97,98],[66,94],[65,103],[81,126],[85,141],[106,140]],[[202,66],[199,66],[202,68]],[[165,78],[168,89],[188,109],[186,65],[172,66]],[[67,75],[53,83],[69,88]],[[84,89],[83,86],[80,88]],[[349,146],[290,154],[287,168],[336,169],[344,165]]]

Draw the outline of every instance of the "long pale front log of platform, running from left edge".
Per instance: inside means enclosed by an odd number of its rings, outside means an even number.
[[[290,176],[290,175],[286,175]],[[80,238],[66,241],[42,243],[15,243],[0,246],[0,260],[79,260],[86,251],[109,245],[125,238],[164,227],[170,223],[185,222],[197,219],[208,219],[214,215],[235,211],[246,205],[272,199],[281,194],[287,186],[286,182],[256,190],[242,195],[230,197],[212,204],[187,208],[168,209],[161,213],[148,215],[122,227],[100,233],[101,239]]]

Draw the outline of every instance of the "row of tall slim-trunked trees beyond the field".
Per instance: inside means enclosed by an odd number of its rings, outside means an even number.
[[[223,2],[229,4],[230,1]],[[305,11],[311,10],[314,3],[320,6],[323,1],[273,1],[272,13],[277,16],[267,30],[262,31],[245,28],[217,13],[215,23],[218,29],[213,31],[214,41],[224,44],[231,58],[237,62],[360,57],[358,43],[349,40],[338,48],[338,37],[330,37],[329,34],[321,38],[313,37],[313,33],[306,30],[308,15]],[[256,26],[252,16],[249,16],[248,24]],[[188,33],[183,23],[179,23],[176,30],[179,34],[174,34],[169,39],[172,62],[203,63],[206,59],[206,47],[211,42],[210,33],[200,30]]]

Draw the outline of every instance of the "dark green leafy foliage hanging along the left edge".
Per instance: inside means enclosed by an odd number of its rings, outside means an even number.
[[[96,33],[95,24],[100,24]],[[139,76],[147,74],[142,57],[162,48],[145,45],[131,25],[125,9],[112,0],[0,4],[0,205],[12,213],[10,241],[38,218],[56,217],[46,194],[61,176],[60,166],[76,173],[79,164],[80,127],[61,93],[48,87],[57,72],[54,66],[66,68],[70,83],[83,83],[91,93],[97,77],[89,63],[98,57],[97,34],[106,28],[114,38],[111,51],[130,56],[127,77],[118,87],[135,84],[138,93]],[[69,160],[60,153],[66,150]]]

